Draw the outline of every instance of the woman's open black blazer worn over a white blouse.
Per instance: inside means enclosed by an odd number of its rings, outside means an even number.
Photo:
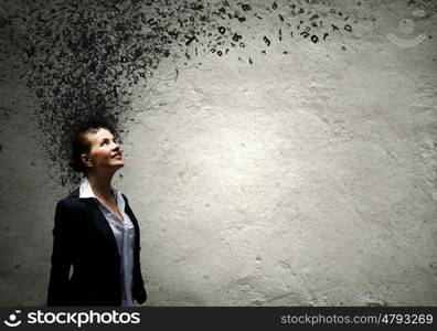
[[[56,205],[47,306],[121,306],[120,256],[113,229],[94,199],[79,199],[78,192],[76,189]],[[136,234],[132,298],[143,303],[140,233],[125,194],[122,197]]]

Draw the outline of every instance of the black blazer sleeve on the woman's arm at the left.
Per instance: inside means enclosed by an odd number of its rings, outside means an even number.
[[[65,200],[56,204],[53,228],[52,268],[47,306],[68,306],[68,281],[72,265],[72,222]]]

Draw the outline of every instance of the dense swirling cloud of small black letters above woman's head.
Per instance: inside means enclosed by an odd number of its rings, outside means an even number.
[[[22,1],[23,12],[8,24],[20,25],[17,34],[22,42],[18,44],[29,68],[23,79],[39,105],[43,145],[63,183],[77,180],[65,148],[73,129],[83,122],[100,121],[126,132],[132,86],[151,84],[163,58],[171,56],[174,63],[182,61],[185,65],[199,63],[199,56],[207,53],[225,58],[232,51],[249,46],[251,36],[257,35],[245,35],[238,24],[255,29],[263,24],[263,18],[266,22],[286,22],[280,23],[279,41],[297,32],[303,39],[311,35],[308,41],[318,46],[328,36],[331,41],[335,33],[342,33],[339,26],[353,30],[351,24],[344,25],[349,17],[343,19],[335,9],[330,10],[331,21],[326,21],[327,13],[306,11],[301,3],[306,0],[289,0],[286,8],[276,1],[268,8],[227,0]],[[323,29],[323,21],[327,26],[331,24],[332,35]],[[266,35],[263,41],[270,46]],[[262,53],[266,55],[265,50]],[[238,60],[243,61],[241,56]],[[253,64],[251,57],[248,62]],[[175,68],[174,81],[178,78]]]

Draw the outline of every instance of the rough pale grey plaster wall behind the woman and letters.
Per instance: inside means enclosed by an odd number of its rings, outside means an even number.
[[[266,47],[266,17],[246,47],[162,58],[132,89],[114,184],[140,222],[147,305],[437,303],[436,6],[356,3],[301,4],[355,18],[324,43]],[[4,2],[3,21],[18,14]],[[68,189],[1,30],[0,305],[44,305]]]

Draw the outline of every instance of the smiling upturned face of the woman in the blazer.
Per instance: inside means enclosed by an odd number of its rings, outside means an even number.
[[[125,166],[119,145],[108,130],[99,129],[95,135],[88,134],[87,138],[90,150],[82,154],[82,161],[89,171],[117,170]]]

